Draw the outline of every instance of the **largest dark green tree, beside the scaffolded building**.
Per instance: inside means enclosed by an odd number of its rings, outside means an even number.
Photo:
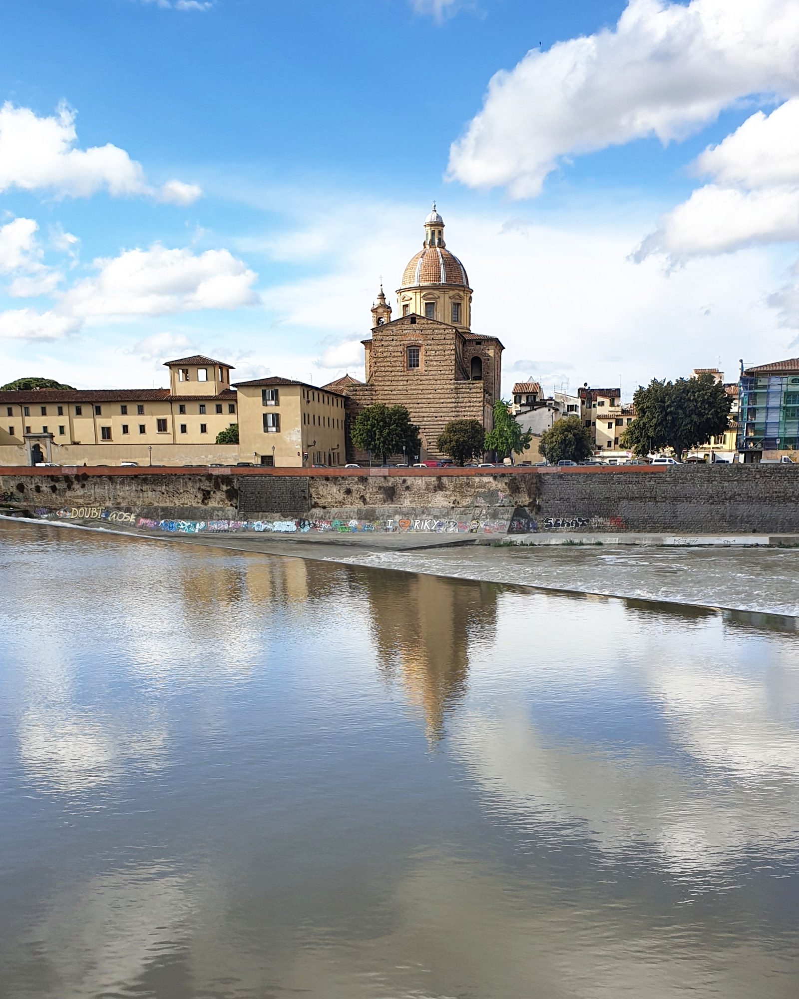
[[[672,448],[679,461],[684,452],[707,444],[729,424],[732,401],[712,375],[676,382],[652,379],[633,396],[635,420],[624,432],[622,445],[636,455]]]

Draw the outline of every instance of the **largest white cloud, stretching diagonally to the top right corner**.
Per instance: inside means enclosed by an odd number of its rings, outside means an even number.
[[[532,50],[489,82],[449,176],[537,195],[563,157],[679,140],[747,95],[799,92],[796,0],[630,0],[613,30]]]

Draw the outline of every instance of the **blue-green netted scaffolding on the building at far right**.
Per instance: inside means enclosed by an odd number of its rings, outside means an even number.
[[[738,451],[799,449],[799,375],[742,376]]]

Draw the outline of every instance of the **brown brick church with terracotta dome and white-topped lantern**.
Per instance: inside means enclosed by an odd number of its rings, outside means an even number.
[[[368,406],[407,408],[419,429],[421,459],[443,458],[435,442],[451,420],[477,420],[491,430],[500,398],[502,345],[471,332],[466,270],[446,249],[435,210],[424,220],[424,242],[408,261],[397,290],[398,317],[381,287],[364,343],[366,381],[350,375],[324,388],[347,397],[348,424]],[[363,458],[347,440],[348,459]]]

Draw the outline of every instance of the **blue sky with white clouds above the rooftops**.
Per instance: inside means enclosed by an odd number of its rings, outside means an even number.
[[[363,377],[435,200],[503,389],[799,355],[799,0],[0,0],[0,384]]]

